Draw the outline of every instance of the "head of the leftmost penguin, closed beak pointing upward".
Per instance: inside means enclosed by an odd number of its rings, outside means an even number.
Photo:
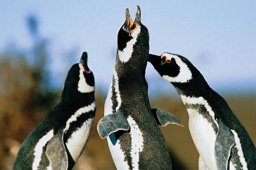
[[[87,65],[87,59],[87,53],[83,52],[80,62],[69,69],[61,100],[72,100],[72,97],[77,96],[77,94],[94,92],[94,76]]]

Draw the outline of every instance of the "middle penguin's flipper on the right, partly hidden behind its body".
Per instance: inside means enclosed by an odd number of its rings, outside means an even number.
[[[168,124],[176,124],[179,126],[183,126],[180,120],[174,116],[173,114],[158,108],[151,109],[152,114],[154,115],[156,122],[158,125],[165,127]]]

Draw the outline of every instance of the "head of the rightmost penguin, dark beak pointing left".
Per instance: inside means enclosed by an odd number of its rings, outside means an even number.
[[[197,70],[187,58],[171,53],[150,54],[148,61],[170,83],[187,83],[193,78],[191,68]]]

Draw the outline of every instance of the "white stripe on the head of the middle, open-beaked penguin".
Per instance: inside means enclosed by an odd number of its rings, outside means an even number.
[[[126,43],[126,47],[123,50],[118,50],[118,57],[121,62],[126,63],[132,57],[134,45],[137,42],[140,31],[141,27],[138,26],[131,35],[132,39]]]

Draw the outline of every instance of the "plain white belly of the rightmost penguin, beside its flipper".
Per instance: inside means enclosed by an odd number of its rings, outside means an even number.
[[[208,169],[216,169],[214,146],[216,135],[212,125],[195,109],[187,109],[188,127],[198,153]]]

